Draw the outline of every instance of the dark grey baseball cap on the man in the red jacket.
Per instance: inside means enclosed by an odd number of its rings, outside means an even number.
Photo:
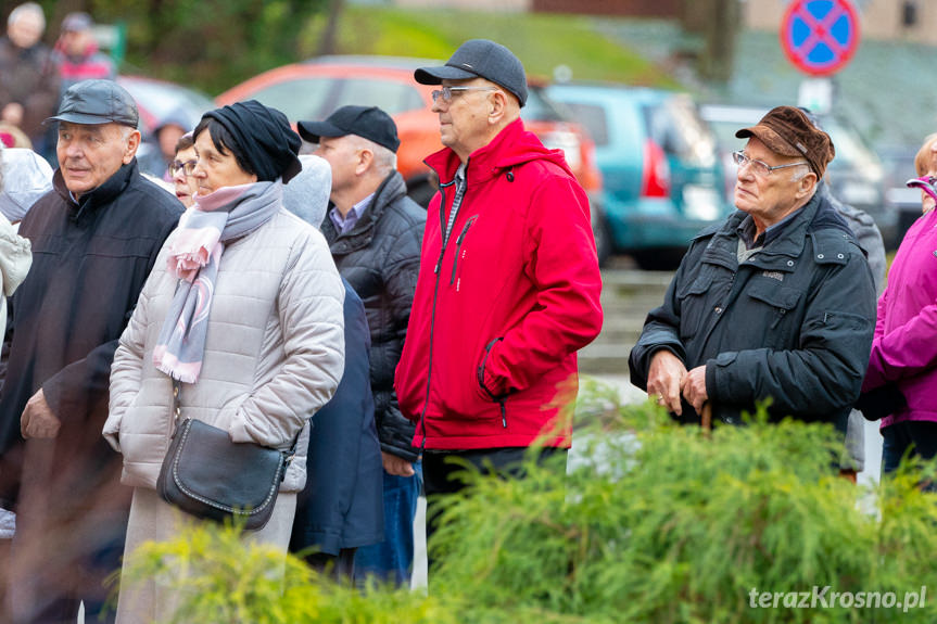
[[[521,106],[527,103],[527,75],[520,60],[501,43],[488,39],[469,39],[442,67],[420,67],[414,72],[414,78],[420,85],[479,77],[514,93]]]

